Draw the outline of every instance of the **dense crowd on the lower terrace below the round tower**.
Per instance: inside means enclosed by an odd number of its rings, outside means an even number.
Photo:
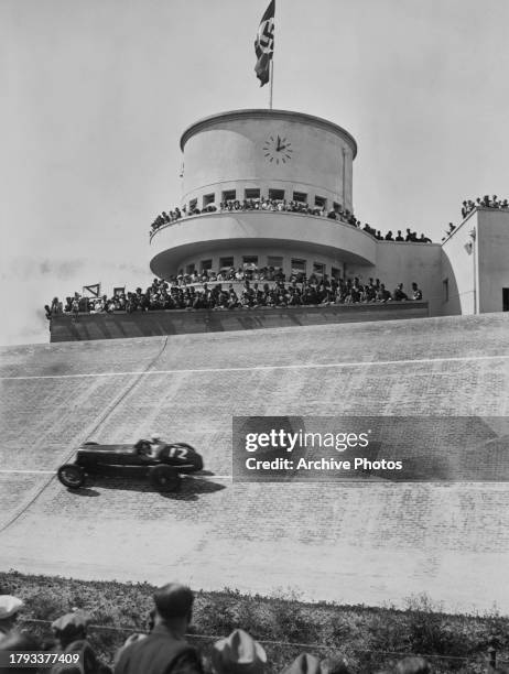
[[[251,270],[252,271],[252,270]],[[231,275],[232,274],[232,275]],[[412,283],[412,290],[407,294],[403,284],[391,292],[379,279],[369,279],[361,283],[355,279],[318,278],[312,274],[308,279],[294,274],[289,283],[284,274],[279,272],[273,283],[259,283],[246,278],[242,270],[227,274],[226,283],[217,283],[217,274],[201,275],[197,285],[194,279],[197,274],[182,276],[174,283],[154,279],[145,291],[137,287],[134,292],[120,290],[113,296],[90,298],[75,293],[67,297],[65,304],[54,297],[51,305],[45,305],[46,318],[59,314],[111,313],[111,312],[149,312],[162,309],[237,309],[259,307],[288,307],[301,305],[337,305],[360,303],[387,303],[408,300],[422,300],[418,284]],[[204,280],[206,279],[206,280]],[[210,280],[214,279],[213,282]],[[221,274],[221,279],[225,280]],[[230,281],[228,283],[228,281]],[[234,283],[241,281],[242,284]]]

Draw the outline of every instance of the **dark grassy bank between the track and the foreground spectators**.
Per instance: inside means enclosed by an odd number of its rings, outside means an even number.
[[[86,609],[97,626],[90,629],[90,641],[107,660],[130,633],[145,630],[152,591],[149,584],[0,573],[0,594],[25,600],[25,627],[43,638],[51,637],[50,626],[36,621],[52,621],[74,607]],[[193,623],[191,639],[205,656],[216,639],[236,627],[246,629],[264,642],[274,673],[303,651],[318,657],[343,654],[354,672],[362,673],[390,666],[399,653],[427,654],[436,672],[480,673],[492,644],[501,660],[509,660],[509,619],[496,612],[446,615],[424,596],[396,610],[305,604],[284,593],[266,598],[227,589],[198,591]]]

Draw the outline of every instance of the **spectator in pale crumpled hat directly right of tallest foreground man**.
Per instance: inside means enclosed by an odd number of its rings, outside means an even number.
[[[234,630],[214,644],[212,665],[216,674],[263,674],[267,655],[250,634]]]

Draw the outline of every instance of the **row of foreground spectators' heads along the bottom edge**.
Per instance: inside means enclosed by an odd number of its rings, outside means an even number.
[[[1,595],[0,655],[23,652],[32,652],[34,656],[63,655],[63,662],[52,667],[37,667],[35,661],[30,667],[34,674],[264,674],[272,670],[263,645],[242,629],[236,629],[228,637],[217,640],[212,646],[210,656],[205,659],[204,653],[186,639],[192,624],[193,604],[193,591],[183,585],[169,583],[156,589],[148,631],[131,634],[123,645],[109,654],[109,664],[106,664],[88,640],[90,617],[86,612],[74,610],[55,620],[52,623],[53,639],[43,643],[17,624],[23,601]],[[4,660],[0,663],[0,672],[12,674],[24,671],[21,666],[6,666]],[[321,660],[310,653],[301,653],[288,663],[282,674],[350,672],[348,660],[340,654]],[[381,670],[379,672],[383,674]],[[383,672],[426,674],[432,670],[423,657],[409,656]]]

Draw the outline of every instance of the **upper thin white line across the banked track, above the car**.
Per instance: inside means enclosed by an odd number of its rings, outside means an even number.
[[[430,362],[470,362],[473,360],[507,360],[505,356],[461,356],[451,358],[412,358],[402,360],[360,360],[357,362],[318,362],[288,366],[254,366],[251,368],[195,368],[181,370],[133,370],[132,372],[87,372],[80,374],[28,374],[24,377],[0,377],[0,380],[26,379],[85,379],[91,377],[133,377],[152,374],[204,374],[217,372],[266,372],[270,370],[313,370],[324,368],[370,368],[381,366],[423,365]]]

